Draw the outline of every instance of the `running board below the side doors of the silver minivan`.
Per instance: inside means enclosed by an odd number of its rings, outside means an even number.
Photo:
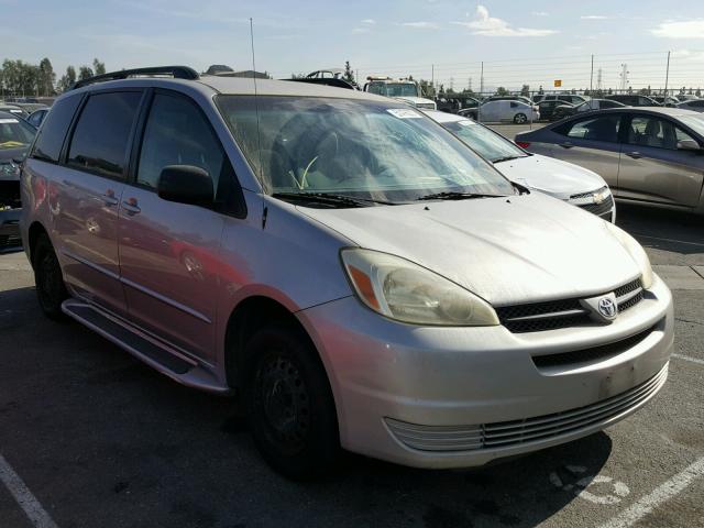
[[[213,393],[229,392],[227,386],[218,383],[216,377],[198,362],[169,350],[155,339],[148,339],[138,328],[105,312],[97,306],[77,299],[67,299],[62,304],[62,310],[178,383]]]

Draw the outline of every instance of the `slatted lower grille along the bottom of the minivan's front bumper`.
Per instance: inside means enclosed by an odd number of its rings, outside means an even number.
[[[461,452],[539,444],[605,424],[649,400],[664,385],[668,365],[646,382],[610,398],[521,420],[468,426],[420,426],[385,418],[403,444],[418,451]]]

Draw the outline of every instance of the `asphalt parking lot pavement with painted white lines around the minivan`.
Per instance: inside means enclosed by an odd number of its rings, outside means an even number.
[[[0,527],[702,527],[702,219],[619,207],[618,223],[675,288],[676,355],[653,402],[498,465],[350,455],[314,483],[262,461],[233,400],[42,317],[24,254],[0,255]]]

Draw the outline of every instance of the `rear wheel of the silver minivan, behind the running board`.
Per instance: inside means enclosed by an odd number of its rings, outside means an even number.
[[[40,234],[34,244],[34,283],[40,307],[46,317],[54,320],[65,318],[62,302],[68,298],[62,268],[48,237]]]

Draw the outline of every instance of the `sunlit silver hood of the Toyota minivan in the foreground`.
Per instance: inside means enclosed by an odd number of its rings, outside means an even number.
[[[495,306],[598,295],[639,274],[606,222],[539,193],[298,209],[361,248],[420,264]]]

